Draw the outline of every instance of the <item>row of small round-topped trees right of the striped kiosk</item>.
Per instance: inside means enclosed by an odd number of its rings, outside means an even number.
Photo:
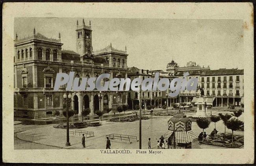
[[[223,124],[225,126],[224,135],[226,135],[226,127],[228,129],[232,130],[232,147],[233,147],[233,133],[234,133],[234,131],[240,129],[241,125],[243,125],[243,122],[238,119],[239,116],[241,116],[242,113],[243,113],[242,110],[234,112],[233,115],[236,116],[237,118],[231,118],[232,115],[230,115],[230,114],[221,114],[221,113],[219,113],[219,116],[211,116],[211,122],[214,122],[215,136],[216,136],[216,122],[218,122],[219,120],[222,120]],[[204,129],[209,127],[210,121],[208,121],[205,118],[199,118],[199,119],[197,119],[197,125],[201,129],[203,129],[203,133],[204,133]],[[203,138],[203,141],[204,141],[204,138]]]

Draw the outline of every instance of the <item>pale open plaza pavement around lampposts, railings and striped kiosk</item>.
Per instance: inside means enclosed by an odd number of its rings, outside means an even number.
[[[219,111],[213,112],[218,114]],[[230,112],[222,112],[230,113]],[[193,116],[195,113],[186,113],[187,116]],[[171,116],[153,116],[149,120],[142,120],[142,149],[147,149],[148,138],[151,138],[151,148],[157,149],[157,140],[164,135],[167,131],[167,121]],[[243,114],[239,117],[243,121]],[[82,136],[69,134],[69,140],[71,146],[66,147],[66,129],[57,129],[52,127],[53,125],[46,125],[35,127],[17,133],[17,138],[38,144],[50,145],[56,148],[67,148],[67,149],[83,149],[82,148]],[[207,134],[210,134],[214,128],[214,123],[211,122],[210,126],[205,129]],[[217,130],[224,133],[224,125],[222,120],[216,123]],[[70,129],[74,131],[75,129]],[[83,131],[93,131],[94,135],[90,138],[85,138],[85,149],[105,149],[106,148],[106,135],[108,134],[122,134],[137,136],[139,140],[139,121],[134,122],[107,122],[102,121],[101,126],[86,127],[79,129]],[[196,122],[192,122],[192,130],[196,136],[202,132],[197,126]],[[231,133],[230,129],[226,128],[226,132]],[[240,132],[241,133],[241,132]],[[236,134],[236,131],[234,132]],[[138,149],[139,142],[132,140],[129,144],[127,141],[111,140],[112,149]],[[192,143],[192,148],[215,148],[210,146],[199,145],[197,142]]]

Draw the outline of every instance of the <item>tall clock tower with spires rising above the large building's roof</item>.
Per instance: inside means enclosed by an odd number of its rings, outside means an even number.
[[[78,20],[76,21],[76,52],[80,56],[85,53],[92,53],[91,32],[91,21],[89,22],[89,26],[84,24],[84,19],[82,25],[78,25]]]

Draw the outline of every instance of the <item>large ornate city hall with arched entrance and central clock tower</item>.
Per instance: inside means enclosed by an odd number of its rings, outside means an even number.
[[[23,118],[47,118],[55,111],[62,115],[65,86],[54,91],[57,73],[75,72],[75,77],[98,77],[110,73],[113,77],[127,78],[127,56],[125,50],[108,45],[93,52],[91,22],[86,26],[76,22],[76,52],[63,50],[61,35],[58,39],[45,37],[33,30],[33,35],[19,39],[15,37],[14,56],[14,115]],[[126,105],[125,91],[70,91],[71,109],[81,114],[83,109],[105,111]]]

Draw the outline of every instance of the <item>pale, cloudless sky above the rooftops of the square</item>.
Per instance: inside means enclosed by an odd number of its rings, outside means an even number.
[[[76,20],[83,18],[15,18],[18,38],[36,32],[58,39],[62,48],[76,51]],[[128,67],[166,70],[172,59],[180,67],[189,61],[211,69],[243,69],[243,20],[84,18],[91,20],[93,50],[112,44],[127,47]]]

